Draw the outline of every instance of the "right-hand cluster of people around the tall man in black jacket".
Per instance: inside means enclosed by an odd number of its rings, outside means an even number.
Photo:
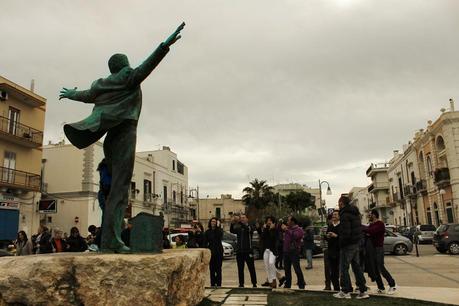
[[[350,204],[349,198],[342,196],[338,202],[339,210],[329,217],[329,224],[324,235],[325,290],[338,291],[334,297],[350,299],[353,286],[349,268],[356,280],[357,298],[369,298],[364,272],[375,281],[378,290],[386,293],[382,277],[389,285],[388,294],[397,290],[392,275],[384,265],[385,224],[379,220],[376,209],[370,212],[370,224],[361,224],[361,214],[357,207]]]

